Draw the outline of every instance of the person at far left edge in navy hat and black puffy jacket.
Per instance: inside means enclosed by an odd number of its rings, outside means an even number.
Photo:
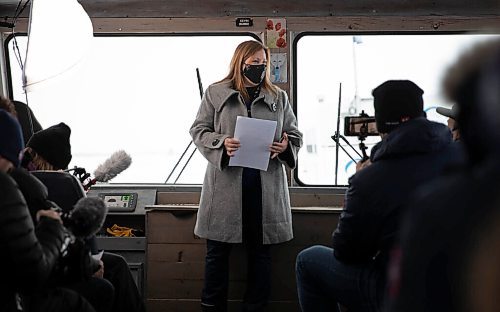
[[[77,293],[47,288],[63,245],[59,214],[40,210],[35,228],[26,201],[9,172],[19,166],[24,147],[21,127],[0,109],[0,311],[81,311],[94,309]]]

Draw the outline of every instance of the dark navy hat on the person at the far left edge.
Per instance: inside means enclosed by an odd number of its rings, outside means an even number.
[[[23,149],[21,125],[10,113],[0,109],[0,155],[19,167],[20,154]]]

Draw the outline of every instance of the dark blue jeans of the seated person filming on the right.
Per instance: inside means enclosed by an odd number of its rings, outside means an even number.
[[[312,246],[297,256],[296,278],[302,312],[380,311],[380,275],[372,264],[346,265],[333,249]]]

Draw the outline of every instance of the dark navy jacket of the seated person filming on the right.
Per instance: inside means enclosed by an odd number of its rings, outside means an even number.
[[[443,124],[409,120],[373,147],[372,164],[349,179],[344,210],[333,233],[337,259],[387,264],[388,251],[412,192],[461,155]]]

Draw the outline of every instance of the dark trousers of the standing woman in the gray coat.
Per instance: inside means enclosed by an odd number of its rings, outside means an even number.
[[[271,290],[270,246],[262,244],[262,189],[258,170],[243,171],[243,246],[247,253],[247,288],[243,311],[263,311]],[[207,311],[227,311],[229,255],[234,244],[207,239],[201,296]],[[213,308],[207,308],[213,307]]]

